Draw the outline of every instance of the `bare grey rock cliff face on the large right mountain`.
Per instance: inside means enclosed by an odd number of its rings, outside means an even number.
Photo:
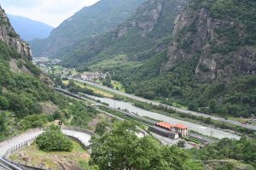
[[[229,80],[232,76],[256,73],[256,48],[236,45],[247,36],[239,20],[214,18],[207,8],[190,8],[177,15],[168,60],[161,71],[171,70],[180,61],[198,59],[195,75],[202,81]],[[231,34],[231,35],[230,35]]]

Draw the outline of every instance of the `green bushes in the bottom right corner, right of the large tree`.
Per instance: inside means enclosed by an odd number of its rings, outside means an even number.
[[[256,139],[241,138],[236,139],[221,139],[216,144],[208,144],[201,150],[189,150],[191,155],[196,160],[205,161],[206,165],[211,166],[211,160],[226,161],[224,163],[212,164],[215,169],[231,170],[236,167],[253,170],[256,168]],[[247,165],[239,165],[239,162]]]

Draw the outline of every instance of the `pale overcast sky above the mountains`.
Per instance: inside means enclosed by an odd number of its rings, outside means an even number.
[[[50,26],[59,26],[84,6],[90,6],[98,0],[0,0],[7,14],[24,16],[44,22]]]

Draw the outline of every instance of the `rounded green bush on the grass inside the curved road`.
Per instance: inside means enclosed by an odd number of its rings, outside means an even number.
[[[41,134],[37,139],[40,150],[45,151],[71,151],[73,143],[71,139],[61,133],[61,130],[48,130]]]

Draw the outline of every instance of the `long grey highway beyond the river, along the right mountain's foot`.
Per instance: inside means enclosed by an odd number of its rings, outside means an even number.
[[[131,98],[131,99],[137,99],[138,101],[146,102],[146,103],[149,103],[149,104],[152,104],[152,105],[163,105],[163,106],[167,107],[168,109],[172,109],[172,110],[175,110],[175,111],[178,111],[178,112],[181,112],[181,113],[186,113],[186,114],[190,114],[190,115],[194,115],[194,116],[203,116],[203,117],[206,117],[206,118],[210,117],[212,120],[216,120],[216,121],[219,121],[219,122],[227,122],[227,123],[239,126],[239,127],[246,127],[247,129],[256,130],[256,126],[254,126],[254,125],[244,125],[244,124],[241,124],[241,122],[237,122],[237,121],[233,121],[233,120],[225,120],[222,117],[210,116],[210,115],[207,115],[207,114],[204,114],[204,113],[199,113],[199,112],[195,112],[195,111],[188,111],[188,110],[180,109],[180,108],[173,107],[173,106],[170,106],[170,105],[160,104],[159,102],[155,102],[155,101],[152,101],[152,100],[149,100],[149,99],[143,99],[143,98],[137,97],[135,95],[125,94],[123,92],[119,92],[118,90],[102,86],[101,84],[97,84],[96,82],[84,81],[84,80],[81,80],[81,79],[78,79],[78,78],[70,78],[70,79],[73,79],[73,80],[78,81],[78,82],[84,82],[84,83],[90,84],[92,86],[96,86],[97,88],[102,88],[102,89],[108,90],[110,92],[113,92],[115,94],[124,95],[125,97]]]

